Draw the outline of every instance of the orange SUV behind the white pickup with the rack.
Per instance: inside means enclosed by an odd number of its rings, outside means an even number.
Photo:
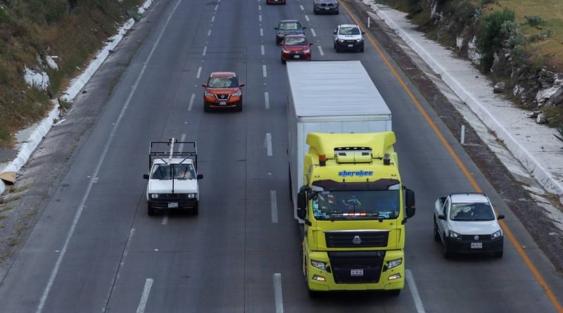
[[[235,72],[213,72],[203,87],[203,111],[211,108],[236,108],[242,111],[242,87]]]

